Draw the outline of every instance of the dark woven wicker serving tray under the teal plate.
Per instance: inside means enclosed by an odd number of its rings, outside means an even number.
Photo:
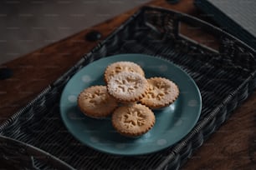
[[[185,22],[218,37],[214,51],[179,34]],[[81,67],[117,53],[146,53],[182,67],[202,94],[195,128],[174,146],[158,153],[120,157],[79,143],[59,116],[59,97]],[[0,158],[18,168],[36,169],[177,169],[202,146],[256,87],[256,52],[228,33],[182,13],[142,7],[120,28],[86,54],[38,97],[0,125]]]

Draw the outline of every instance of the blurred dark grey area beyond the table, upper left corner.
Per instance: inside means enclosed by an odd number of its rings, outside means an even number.
[[[0,64],[149,1],[0,1]]]

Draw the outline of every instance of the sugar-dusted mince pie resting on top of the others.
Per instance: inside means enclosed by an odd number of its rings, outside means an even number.
[[[136,102],[146,92],[146,78],[136,72],[120,72],[110,78],[107,90],[119,102]]]

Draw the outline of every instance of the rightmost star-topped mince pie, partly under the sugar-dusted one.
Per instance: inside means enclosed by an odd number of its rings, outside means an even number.
[[[141,103],[152,109],[166,107],[174,102],[179,95],[177,85],[163,77],[151,77],[147,79],[148,88]]]

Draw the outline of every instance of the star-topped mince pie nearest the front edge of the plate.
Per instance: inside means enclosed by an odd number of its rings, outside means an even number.
[[[156,117],[151,109],[141,104],[118,107],[112,114],[113,127],[126,137],[147,133],[155,122]]]

